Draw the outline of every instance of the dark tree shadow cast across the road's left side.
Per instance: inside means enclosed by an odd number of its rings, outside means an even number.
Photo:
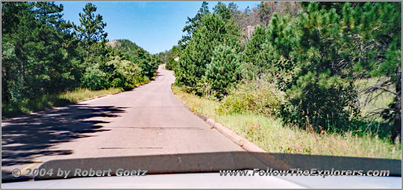
[[[109,131],[97,124],[109,123],[102,118],[119,117],[123,109],[74,104],[2,120],[2,166],[32,163],[40,156],[72,154],[72,150],[49,147]]]

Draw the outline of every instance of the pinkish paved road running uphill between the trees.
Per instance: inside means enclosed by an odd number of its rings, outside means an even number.
[[[2,120],[2,172],[54,159],[243,151],[189,112],[175,77],[134,90]]]

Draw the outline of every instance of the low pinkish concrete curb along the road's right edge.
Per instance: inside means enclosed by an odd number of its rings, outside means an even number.
[[[184,107],[187,110],[192,112],[191,108],[186,105],[185,101],[179,99],[177,96],[175,96],[175,97],[184,105]],[[206,117],[204,115],[201,115],[199,113],[195,113],[195,112],[192,112],[192,113],[195,114],[200,119],[202,119],[203,121],[205,121],[210,126],[212,126],[212,129],[215,128],[217,131],[222,133],[227,138],[231,139],[234,143],[236,143],[237,145],[239,145],[240,147],[242,147],[246,151],[248,151],[248,152],[266,152],[265,150],[259,148],[257,145],[255,145],[252,142],[248,141],[247,139],[239,136],[238,134],[236,134],[231,129],[228,129],[228,128],[224,127],[223,124],[218,123],[218,122],[214,121],[213,119],[208,118],[208,117]]]

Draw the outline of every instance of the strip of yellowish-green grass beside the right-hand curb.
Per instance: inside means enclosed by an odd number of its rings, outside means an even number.
[[[172,91],[192,112],[213,118],[268,152],[401,159],[401,145],[388,139],[352,132],[318,134],[251,113],[219,115],[219,102],[186,93],[177,86],[172,86]]]

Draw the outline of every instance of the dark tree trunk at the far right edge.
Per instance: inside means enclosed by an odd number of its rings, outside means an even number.
[[[394,124],[392,129],[392,141],[396,138],[401,141],[401,67],[397,67],[396,97],[394,105]]]

